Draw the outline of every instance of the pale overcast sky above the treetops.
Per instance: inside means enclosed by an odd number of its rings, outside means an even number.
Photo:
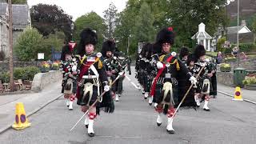
[[[27,2],[30,7],[38,3],[55,4],[62,7],[65,13],[70,14],[75,20],[90,11],[96,12],[103,18],[103,11],[109,7],[110,2],[113,2],[120,12],[126,7],[127,0],[28,0]]]

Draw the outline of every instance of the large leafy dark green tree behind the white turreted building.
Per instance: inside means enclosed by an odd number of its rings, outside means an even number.
[[[198,24],[206,24],[207,32],[212,35],[218,26],[226,27],[226,1],[170,0],[167,4],[171,25],[181,43],[176,46],[193,46],[191,37],[198,31]]]

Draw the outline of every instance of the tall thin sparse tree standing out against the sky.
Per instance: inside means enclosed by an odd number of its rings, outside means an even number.
[[[107,38],[113,38],[114,28],[116,26],[117,12],[118,10],[116,6],[114,6],[113,2],[111,2],[109,8],[104,11],[104,18],[105,18],[106,26],[108,27],[106,30]]]

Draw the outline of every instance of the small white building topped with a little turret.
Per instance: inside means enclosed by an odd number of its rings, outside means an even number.
[[[212,37],[206,33],[206,25],[204,23],[201,22],[198,25],[198,32],[194,34],[192,39],[196,39],[198,44],[205,46],[206,51],[212,51],[210,43]]]

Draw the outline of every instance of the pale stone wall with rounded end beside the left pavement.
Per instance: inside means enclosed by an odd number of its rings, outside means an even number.
[[[62,79],[60,70],[50,70],[47,73],[38,73],[34,75],[31,90],[39,92],[50,83],[58,82]]]

